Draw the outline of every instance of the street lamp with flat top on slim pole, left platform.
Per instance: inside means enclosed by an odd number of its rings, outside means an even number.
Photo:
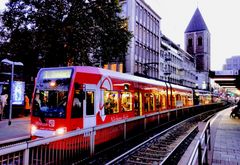
[[[23,66],[23,63],[10,61],[10,60],[8,60],[8,59],[3,59],[1,62],[2,62],[2,63],[5,63],[5,64],[8,64],[8,65],[11,65],[11,67],[12,67],[12,72],[11,72],[11,84],[10,84],[10,90],[11,90],[11,91],[10,91],[10,103],[9,103],[9,121],[8,121],[8,125],[11,125],[14,65]]]

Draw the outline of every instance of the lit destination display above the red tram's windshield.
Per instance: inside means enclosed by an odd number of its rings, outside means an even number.
[[[63,70],[42,70],[40,77],[42,79],[57,79],[57,78],[70,78],[72,69]]]

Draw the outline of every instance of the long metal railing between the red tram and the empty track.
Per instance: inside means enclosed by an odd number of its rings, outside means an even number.
[[[192,116],[217,107],[221,103],[186,107],[154,114],[138,116],[114,123],[68,132],[62,136],[26,141],[0,148],[0,165],[8,164],[69,164],[81,162],[106,147],[117,145],[167,122]],[[206,132],[206,131],[205,131]],[[210,133],[210,132],[209,132]],[[209,141],[208,134],[202,135]],[[201,144],[201,145],[200,145]],[[199,142],[202,152],[202,142]],[[71,160],[71,162],[70,162]]]

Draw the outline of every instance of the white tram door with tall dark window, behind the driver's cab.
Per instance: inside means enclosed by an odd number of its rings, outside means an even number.
[[[96,126],[96,85],[86,84],[83,102],[83,128]]]

